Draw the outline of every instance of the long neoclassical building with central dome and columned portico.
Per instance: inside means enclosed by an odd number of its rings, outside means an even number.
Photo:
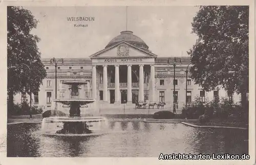
[[[172,53],[172,51],[170,51]],[[176,57],[177,64],[167,64],[172,57],[159,57],[149,50],[148,45],[131,31],[123,31],[114,37],[105,48],[88,58],[65,58],[57,64],[57,99],[70,98],[69,87],[63,81],[82,80],[88,83],[81,86],[81,98],[93,98],[97,104],[108,107],[138,101],[163,101],[172,107],[176,102],[179,108],[186,100],[186,73],[189,57]],[[59,59],[56,59],[59,60]],[[47,78],[40,86],[40,91],[33,95],[33,104],[51,109],[55,99],[55,66],[51,59],[42,59],[47,70]],[[174,91],[175,84],[175,91]],[[174,95],[176,94],[176,95]],[[174,97],[176,96],[176,98]],[[204,101],[215,97],[228,97],[234,102],[240,101],[237,93],[223,89],[206,92],[195,85],[188,74],[187,102],[195,97]],[[15,96],[20,102],[26,95]],[[134,105],[132,105],[134,106]],[[107,106],[106,106],[107,107]]]

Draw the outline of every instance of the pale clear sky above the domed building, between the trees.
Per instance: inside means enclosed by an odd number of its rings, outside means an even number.
[[[159,57],[188,56],[197,36],[191,22],[198,7],[24,7],[39,22],[32,33],[40,38],[41,58],[86,58],[103,50],[121,31],[133,31]],[[126,15],[127,13],[127,15]],[[67,17],[94,17],[74,27]],[[127,19],[126,19],[127,17]],[[127,20],[127,21],[126,21]]]

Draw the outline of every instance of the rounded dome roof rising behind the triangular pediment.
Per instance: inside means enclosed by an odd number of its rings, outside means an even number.
[[[146,43],[140,37],[134,35],[132,31],[122,31],[121,34],[113,38],[105,48],[109,48],[121,41],[130,43],[138,48],[148,49]]]

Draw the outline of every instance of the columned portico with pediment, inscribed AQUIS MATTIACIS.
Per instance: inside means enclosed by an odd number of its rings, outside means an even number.
[[[110,104],[155,101],[156,57],[125,41],[92,55],[93,99]]]

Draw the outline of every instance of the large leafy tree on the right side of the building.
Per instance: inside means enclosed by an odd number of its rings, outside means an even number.
[[[249,91],[249,7],[201,6],[193,18],[192,33],[199,39],[188,52],[190,73],[204,90],[218,86],[241,93]]]

